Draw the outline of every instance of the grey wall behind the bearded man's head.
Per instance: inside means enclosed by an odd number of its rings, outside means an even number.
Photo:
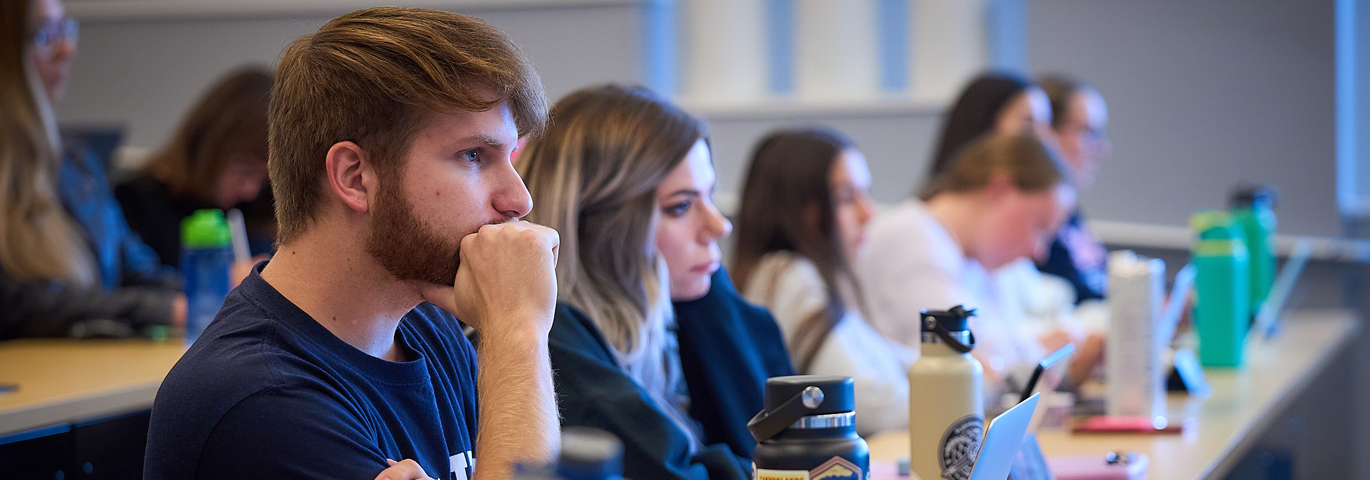
[[[640,8],[608,3],[469,12],[514,37],[555,99],[585,84],[641,77]],[[290,40],[333,16],[82,19],[58,117],[126,125],[127,144],[155,148],[218,75],[244,63],[274,64]]]

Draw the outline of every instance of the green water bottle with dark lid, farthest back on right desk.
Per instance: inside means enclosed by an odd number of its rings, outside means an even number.
[[[1275,192],[1270,187],[1243,187],[1232,195],[1232,218],[1247,237],[1251,255],[1251,313],[1270,296],[1275,281]]]

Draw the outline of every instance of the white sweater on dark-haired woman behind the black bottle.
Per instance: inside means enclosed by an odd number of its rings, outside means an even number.
[[[790,252],[766,255],[747,284],[745,296],[770,309],[792,355],[796,331],[806,318],[827,306],[827,289],[807,258]],[[844,292],[845,298],[849,293]],[[908,428],[908,365],[917,354],[877,333],[849,299],[847,314],[818,347],[804,374],[847,376],[855,380],[856,432],[862,436]],[[800,358],[795,358],[799,366]]]

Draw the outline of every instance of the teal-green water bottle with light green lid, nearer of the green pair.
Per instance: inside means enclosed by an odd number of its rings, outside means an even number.
[[[1241,366],[1251,328],[1251,273],[1245,235],[1226,211],[1200,211],[1189,218],[1197,235],[1195,325],[1203,366]]]

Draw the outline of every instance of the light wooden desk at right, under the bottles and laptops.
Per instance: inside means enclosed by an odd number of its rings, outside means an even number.
[[[1169,398],[1167,411],[1173,421],[1196,422],[1185,435],[1043,431],[1038,432],[1041,448],[1047,455],[1133,450],[1151,457],[1148,479],[1221,479],[1358,333],[1359,321],[1348,311],[1289,313],[1280,336],[1248,348],[1244,369],[1204,370],[1212,385],[1211,396]],[[908,455],[907,432],[877,435],[867,442],[871,459]]]

